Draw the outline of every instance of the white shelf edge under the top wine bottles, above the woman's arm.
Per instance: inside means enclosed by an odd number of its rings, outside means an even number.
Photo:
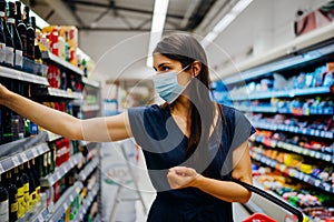
[[[31,82],[36,84],[49,85],[47,78],[39,77],[32,73],[14,70],[0,65],[0,77],[19,80],[23,82]]]

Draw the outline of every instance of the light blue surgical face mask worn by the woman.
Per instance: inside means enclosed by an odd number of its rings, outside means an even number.
[[[185,67],[181,71],[170,71],[161,74],[156,74],[154,78],[155,88],[161,99],[169,104],[173,103],[187,88],[187,85],[179,85],[177,75],[189,67]],[[189,81],[190,82],[190,81]],[[188,82],[188,83],[189,83]],[[188,84],[187,83],[187,84]]]

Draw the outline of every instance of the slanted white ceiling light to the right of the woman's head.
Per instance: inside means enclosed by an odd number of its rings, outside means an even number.
[[[238,14],[244,11],[247,6],[253,0],[239,0],[233,8],[232,10],[223,17],[223,19],[213,28],[213,31],[210,31],[203,40],[202,40],[202,46],[206,48],[209,46],[217,37],[218,34],[225,30],[232,22],[235,20],[235,18],[238,17]]]

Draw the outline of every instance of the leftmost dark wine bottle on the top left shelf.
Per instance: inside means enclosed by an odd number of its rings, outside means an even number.
[[[0,17],[1,17],[1,23],[3,24],[3,33],[6,37],[6,65],[13,67],[14,61],[14,43],[11,37],[11,33],[8,29],[8,23],[6,21],[6,1],[0,0]]]

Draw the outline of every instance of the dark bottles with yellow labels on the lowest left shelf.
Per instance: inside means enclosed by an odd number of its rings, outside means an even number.
[[[40,200],[40,178],[35,159],[0,176],[0,221],[22,218]]]

